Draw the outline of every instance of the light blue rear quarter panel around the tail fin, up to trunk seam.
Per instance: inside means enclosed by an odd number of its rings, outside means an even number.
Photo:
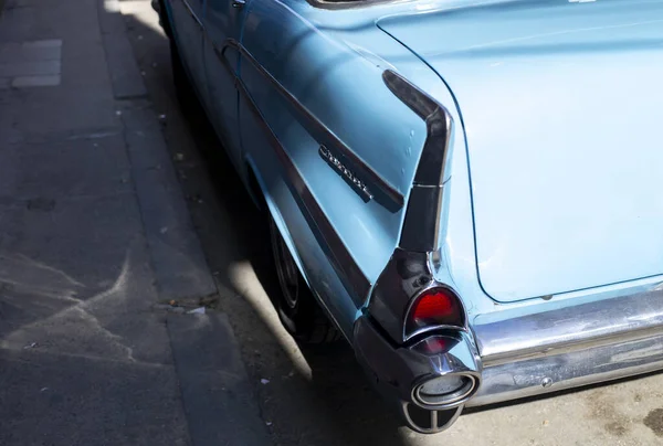
[[[242,44],[262,66],[314,114],[357,156],[400,191],[404,199],[412,182],[425,124],[385,86],[381,75],[394,70],[442,104],[453,120],[451,181],[444,194],[446,224],[434,275],[463,299],[470,320],[498,311],[482,290],[476,269],[472,189],[463,120],[442,78],[409,49],[379,30],[381,18],[411,11],[413,3],[376,4],[359,9],[315,8],[304,0],[253,1],[243,28]],[[318,155],[319,140],[292,112],[284,98],[246,61],[240,75],[316,201],[333,222],[372,286],[396,247],[403,208],[389,210],[364,202]],[[312,287],[346,331],[367,296],[351,296],[297,208],[284,183],[284,172],[262,136],[241,110],[243,148],[264,176],[273,213]],[[535,304],[535,302],[529,302]]]

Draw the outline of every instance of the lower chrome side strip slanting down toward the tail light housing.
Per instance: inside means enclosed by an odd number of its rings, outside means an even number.
[[[240,49],[240,46],[235,46]],[[241,51],[241,50],[240,50]],[[245,51],[242,51],[243,54],[246,54]],[[223,55],[222,52],[219,55]],[[225,61],[225,57],[222,57],[224,62],[224,66],[230,68],[230,65]],[[346,245],[340,240],[340,236],[325,215],[325,212],[317,203],[316,199],[313,197],[313,193],[306,185],[302,173],[294,164],[290,155],[285,151],[283,145],[270,127],[270,125],[265,121],[262,113],[257,108],[257,105],[253,102],[251,94],[246,89],[244,83],[236,77],[235,73],[231,70],[230,73],[235,76],[235,86],[238,87],[240,95],[246,100],[249,109],[252,115],[255,117],[256,121],[262,127],[265,136],[267,137],[272,149],[276,153],[281,164],[286,174],[286,183],[293,195],[297,201],[297,205],[299,210],[304,214],[308,226],[315,234],[316,238],[320,242],[320,246],[325,251],[327,258],[332,263],[332,266],[338,274],[341,279],[341,283],[349,296],[352,298],[357,306],[360,306],[366,300],[368,293],[370,290],[371,283],[366,277],[366,275],[359,268],[359,265],[355,262],[350,252],[346,247]]]

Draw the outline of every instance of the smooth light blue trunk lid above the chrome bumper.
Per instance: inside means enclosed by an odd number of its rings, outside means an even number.
[[[484,290],[663,274],[663,1],[450,3],[378,25],[457,100]]]

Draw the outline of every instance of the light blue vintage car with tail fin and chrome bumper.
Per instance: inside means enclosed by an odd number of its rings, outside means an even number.
[[[663,1],[155,7],[283,322],[411,428],[663,368]]]

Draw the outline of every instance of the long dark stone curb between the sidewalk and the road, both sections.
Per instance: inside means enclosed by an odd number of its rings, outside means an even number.
[[[97,1],[108,72],[159,297],[182,301],[217,295],[119,3]],[[271,446],[227,315],[167,314],[165,320],[191,444]]]

